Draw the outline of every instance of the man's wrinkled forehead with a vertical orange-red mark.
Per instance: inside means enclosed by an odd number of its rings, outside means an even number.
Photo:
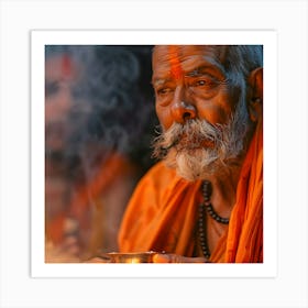
[[[153,50],[153,75],[169,70],[175,77],[184,68],[208,64],[222,67],[227,54],[223,45],[156,45]]]

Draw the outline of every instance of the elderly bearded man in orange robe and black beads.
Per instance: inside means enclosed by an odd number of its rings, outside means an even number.
[[[121,252],[154,262],[263,262],[263,51],[172,45],[153,51],[161,158],[136,187]]]

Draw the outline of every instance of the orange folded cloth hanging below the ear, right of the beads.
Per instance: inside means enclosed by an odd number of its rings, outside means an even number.
[[[256,128],[240,175],[229,229],[212,262],[263,262],[263,130]]]

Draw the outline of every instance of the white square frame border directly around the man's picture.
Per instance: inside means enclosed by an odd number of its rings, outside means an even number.
[[[277,273],[276,38],[277,34],[274,31],[32,31],[32,277],[275,277]],[[50,44],[260,44],[264,46],[263,264],[172,264],[166,266],[165,264],[44,263],[44,48]]]

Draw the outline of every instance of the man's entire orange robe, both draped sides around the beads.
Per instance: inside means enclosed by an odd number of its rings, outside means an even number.
[[[141,179],[119,232],[121,252],[165,251],[193,256],[201,182],[187,182],[160,162]],[[229,228],[211,262],[263,262],[263,130],[244,160]]]

